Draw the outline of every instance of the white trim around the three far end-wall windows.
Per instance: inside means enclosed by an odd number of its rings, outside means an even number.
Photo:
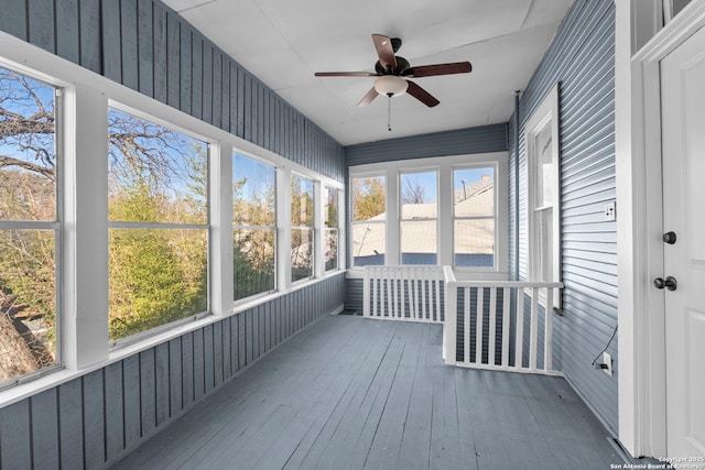
[[[453,168],[458,166],[490,166],[497,165],[495,175],[495,204],[496,223],[495,230],[495,267],[463,267],[454,270],[460,281],[506,281],[509,276],[508,267],[508,230],[509,203],[508,203],[508,157],[507,152],[488,152],[468,155],[434,156],[429,159],[413,159],[393,162],[371,163],[351,166],[348,170],[349,179],[366,176],[384,176],[387,181],[387,253],[386,264],[394,265],[400,261],[400,233],[399,233],[399,174],[415,173],[429,170],[438,171],[438,200],[453,200]],[[349,182],[348,179],[348,182]],[[393,184],[392,184],[393,183]],[[349,186],[349,185],[348,185]],[[352,227],[352,197],[348,189],[350,217],[347,223]],[[453,208],[452,204],[438,206],[438,258],[441,265],[453,265]],[[448,221],[445,223],[444,221]],[[349,243],[352,243],[351,237]],[[348,250],[350,247],[348,247]],[[350,258],[351,260],[351,258]],[[347,272],[349,278],[361,278],[364,269],[350,266]]]

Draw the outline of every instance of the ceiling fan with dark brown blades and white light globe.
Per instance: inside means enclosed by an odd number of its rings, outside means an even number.
[[[409,77],[422,78],[437,75],[467,74],[473,70],[469,62],[454,62],[449,64],[421,65],[412,67],[404,57],[394,54],[401,47],[399,37],[388,37],[383,34],[372,34],[372,42],[377,50],[379,61],[375,64],[375,73],[371,72],[316,72],[316,77],[378,77],[375,86],[362,97],[357,106],[367,106],[377,97],[409,95],[416,98],[427,107],[438,105],[438,100],[429,91],[421,88]]]

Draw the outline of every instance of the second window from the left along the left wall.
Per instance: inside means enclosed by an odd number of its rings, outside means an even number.
[[[109,338],[208,308],[208,145],[108,111]]]

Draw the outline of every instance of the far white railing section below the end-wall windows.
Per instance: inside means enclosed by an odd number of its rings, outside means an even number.
[[[365,266],[367,318],[443,323],[443,266]]]

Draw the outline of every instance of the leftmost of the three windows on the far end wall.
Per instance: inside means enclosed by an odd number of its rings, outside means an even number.
[[[384,264],[387,189],[384,176],[350,178],[352,197],[352,265]]]

